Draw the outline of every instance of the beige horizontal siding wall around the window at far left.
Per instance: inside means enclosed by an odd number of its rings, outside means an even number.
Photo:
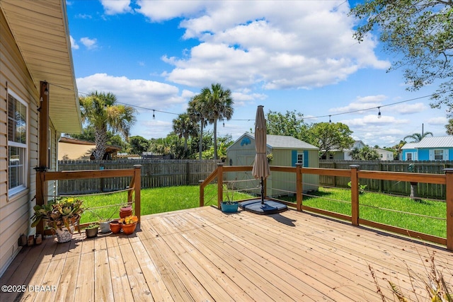
[[[28,235],[30,211],[35,202],[35,170],[38,165],[38,99],[27,66],[0,11],[0,276],[20,248],[21,233]],[[28,189],[8,197],[8,90],[28,104]]]

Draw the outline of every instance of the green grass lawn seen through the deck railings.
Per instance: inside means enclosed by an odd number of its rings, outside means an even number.
[[[350,216],[350,190],[320,187],[318,192],[313,192],[311,195],[304,196],[304,205]],[[127,192],[82,195],[81,198],[84,199],[84,206],[88,207],[81,218],[81,223],[86,223],[98,221],[101,218],[117,218],[120,204],[127,201]],[[248,198],[251,198],[251,195],[241,192],[234,193],[234,200]],[[285,199],[289,202],[295,202],[295,197]],[[360,218],[362,219],[407,228],[433,236],[443,238],[447,236],[445,202],[430,200],[415,202],[408,197],[395,197],[374,192],[360,194],[359,200]],[[142,215],[198,207],[200,204],[200,187],[195,185],[142,189],[141,202]],[[114,206],[104,207],[110,204]],[[205,205],[217,205],[217,185],[209,185],[205,188]],[[421,216],[401,212],[420,214]]]

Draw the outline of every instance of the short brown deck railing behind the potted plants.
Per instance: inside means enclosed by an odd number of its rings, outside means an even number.
[[[109,169],[109,170],[71,170],[71,171],[37,171],[37,204],[43,204],[45,183],[50,180],[75,180],[75,179],[98,179],[98,178],[120,178],[129,177],[130,185],[127,192],[127,203],[134,204],[134,214],[140,221],[140,192],[141,192],[141,168],[142,165],[134,165],[130,169]],[[81,227],[86,226],[84,223]],[[37,226],[37,233],[45,233],[43,224]]]

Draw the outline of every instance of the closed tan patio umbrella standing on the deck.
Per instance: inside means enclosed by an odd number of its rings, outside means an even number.
[[[264,204],[264,180],[270,175],[268,157],[266,156],[266,120],[263,106],[259,105],[256,110],[255,119],[255,162],[253,163],[252,174],[260,180],[261,204]]]

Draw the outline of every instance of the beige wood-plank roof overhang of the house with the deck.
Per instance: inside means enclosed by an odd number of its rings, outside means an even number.
[[[59,132],[81,132],[66,1],[1,0],[14,40],[35,87],[50,83],[49,116]]]

